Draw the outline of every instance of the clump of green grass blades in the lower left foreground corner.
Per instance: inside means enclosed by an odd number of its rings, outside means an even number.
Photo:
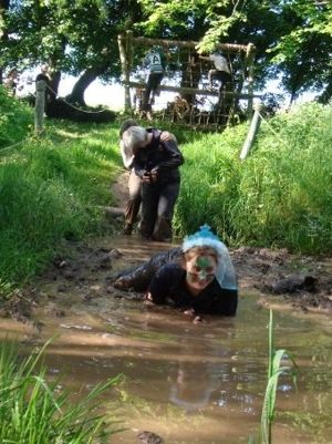
[[[45,344],[46,345],[46,344]],[[114,417],[102,413],[101,396],[118,378],[96,385],[80,401],[71,401],[59,381],[46,381],[41,362],[45,345],[22,358],[13,343],[0,350],[0,442],[7,444],[102,444],[120,431]]]

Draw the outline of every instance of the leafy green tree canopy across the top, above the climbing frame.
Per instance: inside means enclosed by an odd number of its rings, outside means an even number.
[[[48,62],[53,86],[61,73],[79,78],[72,99],[89,84],[121,75],[117,34],[257,48],[259,85],[279,76],[295,99],[309,89],[332,94],[332,2],[328,0],[0,0],[0,65]],[[138,62],[137,62],[138,63]]]

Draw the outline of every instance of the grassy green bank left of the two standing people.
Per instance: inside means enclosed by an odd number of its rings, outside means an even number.
[[[110,227],[115,128],[62,124],[0,157],[0,295],[40,272],[64,239]]]

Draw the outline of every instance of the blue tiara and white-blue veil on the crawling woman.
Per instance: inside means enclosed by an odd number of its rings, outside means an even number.
[[[209,247],[217,252],[218,267],[216,270],[216,278],[221,288],[236,290],[237,278],[228,249],[208,225],[203,225],[197,233],[185,237],[183,251],[186,252],[195,247]]]

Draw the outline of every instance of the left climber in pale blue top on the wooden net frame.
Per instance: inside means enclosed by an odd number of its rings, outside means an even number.
[[[148,69],[148,78],[143,96],[142,111],[149,112],[165,74],[166,56],[160,47],[155,47],[146,54],[144,66]],[[151,93],[153,93],[152,97]]]

